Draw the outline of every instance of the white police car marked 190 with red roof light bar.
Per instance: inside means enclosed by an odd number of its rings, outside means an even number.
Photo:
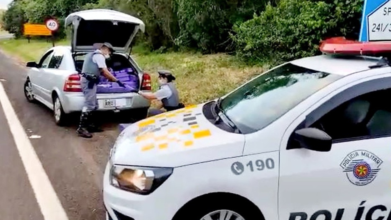
[[[112,220],[391,220],[391,43],[326,53],[144,119],[104,175]]]

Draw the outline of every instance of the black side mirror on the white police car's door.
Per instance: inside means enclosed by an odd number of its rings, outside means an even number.
[[[331,150],[332,138],[317,128],[297,130],[294,132],[294,139],[299,142],[301,148],[323,152]]]

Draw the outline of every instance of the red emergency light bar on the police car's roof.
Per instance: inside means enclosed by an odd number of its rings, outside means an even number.
[[[391,41],[362,42],[336,37],[321,41],[320,50],[324,54],[384,56],[389,58],[391,57]]]

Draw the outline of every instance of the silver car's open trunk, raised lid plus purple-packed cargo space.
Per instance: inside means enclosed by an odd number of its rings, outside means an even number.
[[[69,14],[65,26],[72,25],[72,54],[76,70],[81,73],[84,55],[98,49],[102,43],[111,43],[115,52],[126,54],[138,30],[145,31],[142,20],[119,11],[108,9],[91,9]],[[109,82],[101,76],[97,93],[137,92],[140,78],[135,67],[121,54],[113,54],[106,61],[111,73],[126,88],[118,83]]]

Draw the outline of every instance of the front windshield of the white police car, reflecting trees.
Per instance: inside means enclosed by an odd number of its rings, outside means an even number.
[[[226,96],[221,108],[241,133],[256,132],[341,77],[287,63]]]

